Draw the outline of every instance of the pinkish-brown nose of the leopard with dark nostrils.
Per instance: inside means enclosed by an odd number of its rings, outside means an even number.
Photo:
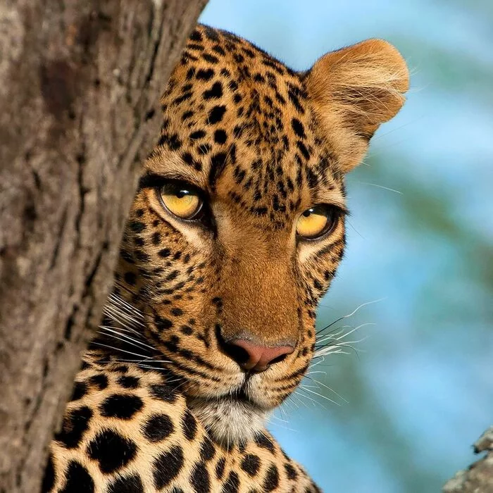
[[[292,346],[261,346],[246,339],[234,339],[227,344],[227,354],[246,371],[262,372],[282,361],[294,351]]]

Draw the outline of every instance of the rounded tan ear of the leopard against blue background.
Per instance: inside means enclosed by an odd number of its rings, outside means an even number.
[[[379,125],[401,109],[409,73],[392,44],[368,39],[319,58],[305,84],[318,123],[346,173],[363,159]]]

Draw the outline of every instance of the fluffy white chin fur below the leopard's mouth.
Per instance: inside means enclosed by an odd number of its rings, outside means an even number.
[[[211,436],[226,447],[248,442],[265,428],[267,411],[248,402],[192,399],[189,407]]]

